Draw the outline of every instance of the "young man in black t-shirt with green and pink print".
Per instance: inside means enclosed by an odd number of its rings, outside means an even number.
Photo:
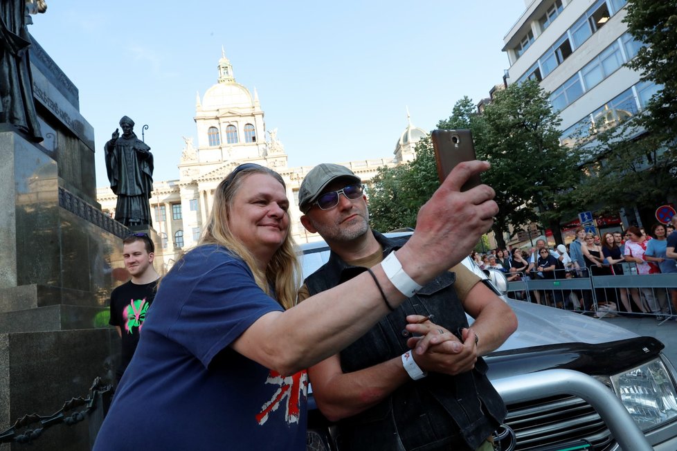
[[[132,279],[111,293],[109,324],[118,329],[121,338],[116,386],[134,356],[146,312],[155,297],[159,275],[153,267],[154,252],[153,241],[145,233],[131,234],[123,240],[125,268]]]

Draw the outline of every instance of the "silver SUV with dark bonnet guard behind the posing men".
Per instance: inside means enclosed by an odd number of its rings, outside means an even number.
[[[301,248],[304,277],[329,259],[324,241]],[[471,259],[463,263],[487,278]],[[503,346],[485,357],[508,409],[503,451],[677,450],[677,373],[660,341],[509,299],[505,277],[498,271],[489,276],[519,322]],[[326,431],[321,414],[311,411],[309,418],[309,449],[335,449],[331,434],[316,435]]]

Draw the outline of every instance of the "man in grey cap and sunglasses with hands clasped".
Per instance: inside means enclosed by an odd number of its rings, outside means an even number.
[[[361,180],[347,167],[314,167],[298,201],[303,226],[331,249],[329,261],[305,279],[300,302],[394,261],[409,239],[371,230]],[[515,330],[516,317],[465,266],[451,271],[419,286],[424,295],[408,292],[410,300],[360,340],[308,369],[318,407],[338,421],[342,450],[494,450],[488,437],[505,418],[505,405],[481,356]],[[385,295],[383,301],[388,304]],[[466,312],[476,318],[472,327]],[[440,333],[449,341],[414,355],[401,334],[407,322],[416,322],[421,335]]]

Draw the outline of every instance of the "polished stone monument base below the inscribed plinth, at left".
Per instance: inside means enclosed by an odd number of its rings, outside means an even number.
[[[86,397],[96,377],[112,383],[120,339],[108,325],[108,302],[123,282],[115,269],[124,268],[129,230],[67,190],[55,159],[17,131],[0,130],[0,149],[3,432],[26,414],[50,416]],[[88,422],[54,425],[30,444],[0,449],[89,450]]]

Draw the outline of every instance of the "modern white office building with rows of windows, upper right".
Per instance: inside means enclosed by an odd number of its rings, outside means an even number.
[[[641,45],[623,22],[626,3],[525,0],[505,36],[507,84],[539,80],[559,111],[565,145],[634,116],[656,92],[655,84],[640,82],[640,73],[624,66]],[[626,224],[638,220],[634,211],[622,217]]]

